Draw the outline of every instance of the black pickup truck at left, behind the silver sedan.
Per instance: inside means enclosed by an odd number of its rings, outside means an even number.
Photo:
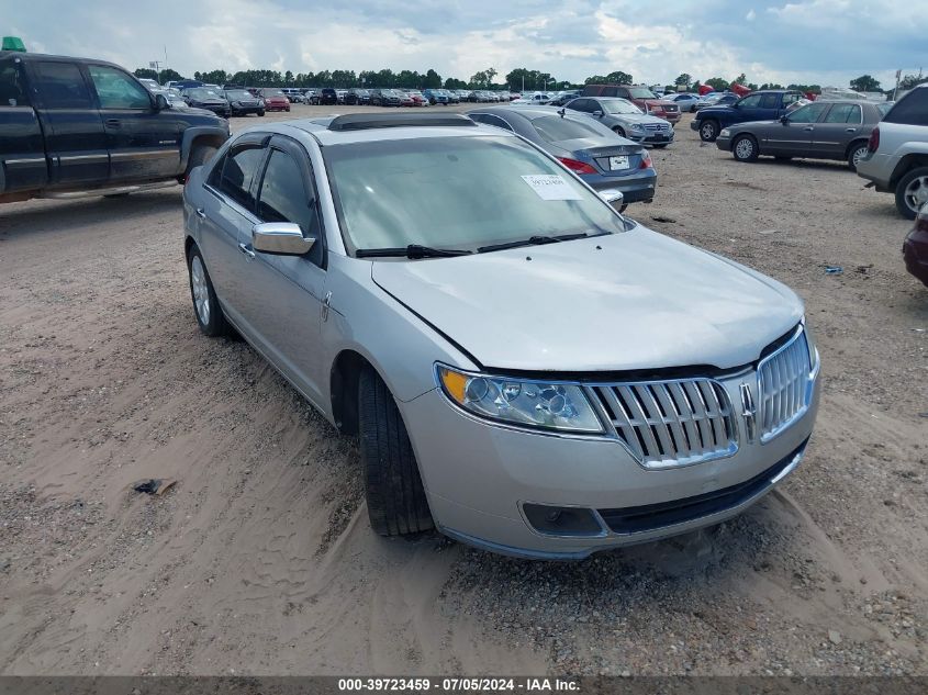
[[[0,52],[0,203],[182,183],[228,135],[111,63]]]

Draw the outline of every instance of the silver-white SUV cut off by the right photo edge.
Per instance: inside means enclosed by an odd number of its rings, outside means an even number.
[[[873,128],[857,172],[877,191],[894,193],[908,220],[928,204],[928,83],[903,97]]]

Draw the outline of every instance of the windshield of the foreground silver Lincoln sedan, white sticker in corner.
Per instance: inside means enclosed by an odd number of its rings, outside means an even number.
[[[595,193],[506,136],[424,137],[323,148],[350,249],[476,250],[536,235],[625,229]]]

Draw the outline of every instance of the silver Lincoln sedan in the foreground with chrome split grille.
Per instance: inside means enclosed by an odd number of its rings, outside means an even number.
[[[200,328],[359,436],[384,536],[583,558],[729,518],[806,450],[800,299],[501,128],[262,123],[191,173],[183,217]]]

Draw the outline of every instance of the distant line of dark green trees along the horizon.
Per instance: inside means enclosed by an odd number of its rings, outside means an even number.
[[[135,70],[136,77],[144,77],[158,80],[161,83],[170,80],[188,79],[170,68],[156,71],[149,68],[138,68]],[[215,69],[205,72],[193,72],[193,79],[211,85],[244,85],[247,87],[337,87],[348,89],[351,87],[364,88],[387,88],[396,87],[400,89],[503,89],[508,88],[515,91],[546,91],[546,90],[566,90],[580,89],[584,85],[634,85],[634,76],[623,70],[615,70],[608,75],[591,75],[583,82],[571,82],[570,80],[559,80],[550,72],[543,70],[530,70],[528,68],[516,68],[505,76],[504,82],[495,82],[494,79],[499,72],[494,68],[487,68],[479,70],[470,76],[470,79],[463,80],[456,77],[448,77],[443,79],[441,76],[434,69],[429,68],[425,72],[417,70],[400,70],[394,72],[389,68],[382,70],[321,70],[318,72],[292,72],[286,70],[239,70],[237,72],[227,72],[226,70]],[[923,78],[921,72],[918,75],[906,75],[899,82],[901,89],[912,89],[916,85],[928,82],[928,78]],[[774,82],[764,82],[757,85],[749,82],[747,76],[741,72],[733,80],[726,80],[724,77],[711,77],[703,81],[694,79],[687,72],[682,72],[673,85],[663,86],[668,91],[698,91],[702,85],[707,85],[716,91],[725,91],[731,88],[731,85],[742,85],[751,90],[757,89],[795,89],[803,92],[820,93],[821,87],[819,85],[778,85]],[[875,92],[882,91],[880,81],[870,75],[861,75],[850,80],[849,87],[856,91]],[[895,87],[895,86],[894,86]],[[887,90],[892,92],[892,88]]]

